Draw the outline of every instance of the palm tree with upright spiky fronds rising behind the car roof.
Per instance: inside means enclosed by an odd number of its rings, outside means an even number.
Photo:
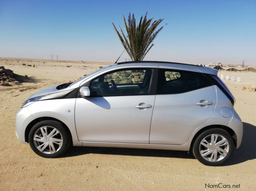
[[[136,26],[134,14],[132,14],[131,17],[131,13],[129,13],[128,24],[126,23],[124,16],[123,18],[128,36],[124,34],[122,28],[119,26],[122,34],[121,35],[114,23],[112,23],[114,30],[116,31],[123,47],[127,51],[128,55],[131,57],[131,59],[133,61],[142,61],[148,51],[154,46],[153,40],[163,28],[162,26],[157,31],[155,31],[158,25],[163,21],[163,19],[160,18],[158,20],[155,20],[151,24],[153,18],[147,19],[146,13],[144,18],[143,15],[141,16],[139,25]]]

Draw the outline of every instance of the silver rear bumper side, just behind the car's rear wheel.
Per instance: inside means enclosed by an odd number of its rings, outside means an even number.
[[[227,126],[234,130],[236,135],[236,148],[239,148],[243,138],[243,122],[235,112],[235,109],[233,112],[233,117]]]

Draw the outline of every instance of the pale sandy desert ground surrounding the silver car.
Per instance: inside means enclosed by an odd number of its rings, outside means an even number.
[[[0,86],[0,190],[216,190],[205,188],[208,183],[256,189],[256,92],[241,90],[256,85],[256,73],[219,72],[241,77],[240,83],[224,82],[236,98],[235,110],[244,123],[242,145],[225,166],[202,165],[183,151],[97,147],[72,147],[62,158],[46,159],[37,156],[29,144],[19,143],[15,114],[31,94],[107,64],[0,59],[0,66],[33,79],[33,83]]]

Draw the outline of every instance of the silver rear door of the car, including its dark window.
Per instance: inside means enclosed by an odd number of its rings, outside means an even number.
[[[216,101],[215,86],[198,70],[160,66],[150,143],[186,143],[211,117]]]

